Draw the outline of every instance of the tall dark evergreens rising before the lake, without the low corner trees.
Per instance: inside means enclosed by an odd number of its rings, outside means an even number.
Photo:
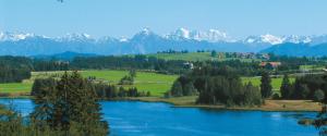
[[[34,121],[48,122],[47,115],[49,115],[49,126],[65,132],[65,135],[72,135],[70,134],[72,131],[77,132],[74,135],[85,136],[108,134],[107,123],[101,122],[95,87],[77,72],[72,74],[65,72],[57,84],[37,83],[36,85],[41,87],[34,87],[38,88],[37,107],[32,114]],[[44,111],[45,103],[50,106],[50,110],[47,110],[50,111],[49,114]]]

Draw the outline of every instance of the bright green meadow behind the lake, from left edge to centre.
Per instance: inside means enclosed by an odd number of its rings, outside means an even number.
[[[123,76],[128,75],[128,71],[82,71],[83,77],[96,76],[97,79],[107,81],[111,84],[117,84]],[[33,81],[35,78],[60,77],[63,72],[33,72],[31,79],[25,79],[22,83],[0,84],[0,92],[17,94],[29,92]],[[177,75],[164,75],[149,72],[137,72],[135,84],[124,87],[136,87],[141,91],[150,91],[152,96],[162,96],[164,92],[170,89]]]

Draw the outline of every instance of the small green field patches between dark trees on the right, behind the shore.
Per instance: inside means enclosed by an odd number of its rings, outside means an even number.
[[[242,82],[244,84],[251,82],[254,86],[261,86],[261,77],[242,77]],[[271,86],[272,86],[272,90],[275,92],[279,94],[281,82],[282,82],[282,77],[272,77],[271,78]],[[295,82],[295,78],[290,77],[290,82],[291,83]]]

